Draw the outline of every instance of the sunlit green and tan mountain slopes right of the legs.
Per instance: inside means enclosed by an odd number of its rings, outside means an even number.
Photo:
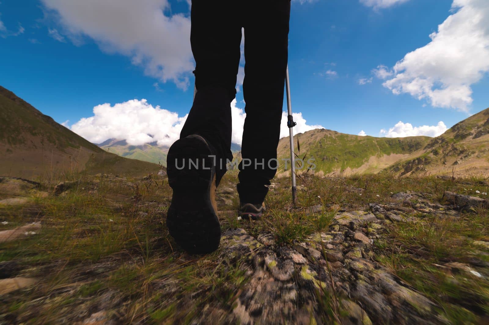
[[[300,152],[297,150],[297,141]],[[325,175],[378,173],[477,174],[489,176],[489,108],[455,124],[436,138],[376,138],[316,129],[294,136],[295,151],[315,159]],[[279,159],[290,157],[289,138],[278,145]],[[282,163],[279,174],[286,175]]]

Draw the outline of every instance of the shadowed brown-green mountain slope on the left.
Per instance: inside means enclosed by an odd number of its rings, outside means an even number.
[[[158,166],[107,153],[0,86],[0,175],[147,174]]]

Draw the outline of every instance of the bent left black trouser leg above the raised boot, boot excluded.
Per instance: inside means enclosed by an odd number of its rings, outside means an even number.
[[[217,155],[217,183],[231,160],[231,105],[241,57],[241,21],[234,0],[193,0],[190,41],[197,94],[180,138],[199,134]],[[222,168],[219,163],[223,160]]]

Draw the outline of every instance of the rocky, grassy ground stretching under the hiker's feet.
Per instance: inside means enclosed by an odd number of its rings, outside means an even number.
[[[164,176],[1,178],[0,324],[489,321],[486,180],[302,177],[292,207],[278,179],[250,223],[227,175],[221,247],[190,256]]]

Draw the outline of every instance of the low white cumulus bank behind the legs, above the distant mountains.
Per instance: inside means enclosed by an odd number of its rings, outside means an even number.
[[[236,104],[236,100],[231,103],[231,141],[241,144],[246,114]],[[297,122],[294,133],[322,128],[320,125],[308,125],[302,113],[294,113],[293,117]],[[113,138],[126,140],[131,145],[157,142],[158,145],[170,146],[178,140],[186,119],[187,115],[179,117],[178,113],[153,106],[144,99],[136,99],[115,105],[97,105],[93,108],[92,117],[81,119],[71,125],[70,129],[93,143]],[[63,122],[68,127],[67,124],[68,121]],[[280,137],[288,135],[287,114],[283,112]]]

